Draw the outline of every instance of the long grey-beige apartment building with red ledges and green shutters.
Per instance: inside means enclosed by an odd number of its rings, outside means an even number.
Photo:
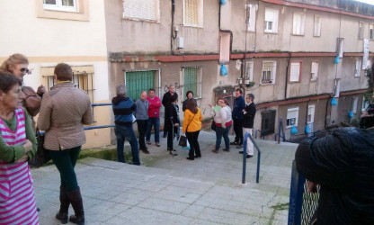
[[[374,48],[374,7],[348,0],[122,0],[105,2],[110,90],[138,98],[169,85],[208,103],[242,87],[267,139],[325,130],[359,117]],[[366,54],[364,54],[364,45]],[[337,63],[338,56],[339,62]],[[368,59],[369,58],[369,59]],[[221,75],[226,67],[227,75]],[[334,97],[337,105],[332,105]]]

